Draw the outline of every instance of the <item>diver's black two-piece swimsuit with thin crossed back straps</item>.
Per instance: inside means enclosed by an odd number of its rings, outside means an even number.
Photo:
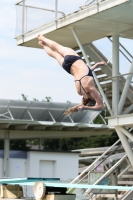
[[[62,63],[62,67],[63,67],[69,74],[71,74],[70,68],[71,68],[72,64],[73,64],[76,60],[82,60],[82,58],[81,58],[80,56],[67,55],[67,56],[64,57],[64,61],[63,61],[63,63]],[[87,67],[88,67],[88,66],[87,66]],[[88,67],[88,68],[89,68],[89,67]],[[88,73],[87,75],[85,75],[85,76],[91,76],[91,77],[93,77],[93,74],[92,74],[92,71],[91,71],[90,68],[89,68],[89,73]],[[85,76],[83,76],[82,78],[84,78]],[[82,83],[81,83],[82,78],[79,79],[79,80],[75,80],[75,82],[76,82],[76,81],[79,81],[79,83],[80,83],[80,93],[81,93],[81,87],[82,87],[82,89],[85,91],[85,89],[84,89],[84,87],[82,86]],[[86,91],[85,91],[85,92],[86,92]],[[86,92],[86,94],[88,94],[88,92]]]

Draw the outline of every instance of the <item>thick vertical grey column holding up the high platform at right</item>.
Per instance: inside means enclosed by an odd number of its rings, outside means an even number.
[[[113,68],[112,76],[119,75],[119,36],[113,35]],[[119,102],[119,78],[112,79],[112,109],[114,115],[118,115]]]

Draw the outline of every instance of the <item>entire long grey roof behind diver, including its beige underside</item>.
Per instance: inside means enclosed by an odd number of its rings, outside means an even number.
[[[10,139],[72,138],[111,134],[114,128],[90,124],[99,114],[83,111],[63,118],[64,111],[75,103],[36,102],[0,99],[0,138]]]

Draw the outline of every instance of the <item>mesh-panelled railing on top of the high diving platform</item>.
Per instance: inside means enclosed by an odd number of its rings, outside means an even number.
[[[24,35],[25,33],[39,28],[45,24],[56,22],[59,18],[73,13],[77,10],[84,9],[86,6],[99,4],[106,0],[83,0],[76,1],[62,1],[52,0],[49,4],[47,0],[45,4],[40,7],[31,5],[29,0],[21,0],[16,3],[17,16],[16,16],[16,36]],[[27,5],[29,4],[29,5]],[[39,0],[37,5],[39,5]],[[81,6],[82,5],[82,6]],[[49,8],[44,8],[49,7]],[[51,9],[52,8],[52,9]],[[61,10],[61,11],[59,11]]]

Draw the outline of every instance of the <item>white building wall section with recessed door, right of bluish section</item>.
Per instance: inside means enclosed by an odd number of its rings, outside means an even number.
[[[68,180],[78,175],[78,153],[29,151],[27,162],[28,177]]]

